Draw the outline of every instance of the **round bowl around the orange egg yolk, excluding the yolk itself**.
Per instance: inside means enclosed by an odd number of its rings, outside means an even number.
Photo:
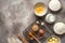
[[[39,14],[39,13],[36,12],[36,8],[37,6],[42,6],[43,8],[42,13]],[[46,4],[43,2],[37,2],[35,4],[35,8],[34,8],[35,15],[37,15],[37,16],[44,16],[47,14],[47,11],[48,11],[48,9],[47,9],[47,6],[46,6]]]

